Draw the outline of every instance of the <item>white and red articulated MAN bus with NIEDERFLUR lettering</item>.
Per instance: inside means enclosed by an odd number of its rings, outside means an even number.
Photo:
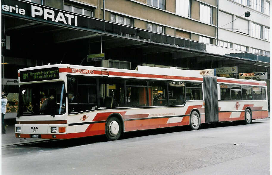
[[[266,82],[197,71],[44,65],[18,70],[15,136],[76,138],[268,117]]]

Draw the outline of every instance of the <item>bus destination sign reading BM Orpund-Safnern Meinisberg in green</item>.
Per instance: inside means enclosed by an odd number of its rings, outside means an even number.
[[[59,78],[60,73],[58,67],[20,71],[21,82],[33,82]]]

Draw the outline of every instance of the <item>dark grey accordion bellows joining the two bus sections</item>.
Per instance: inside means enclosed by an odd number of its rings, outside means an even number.
[[[218,95],[216,76],[203,76],[205,123],[218,121]]]

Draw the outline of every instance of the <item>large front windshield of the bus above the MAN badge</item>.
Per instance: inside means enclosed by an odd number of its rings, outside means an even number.
[[[20,86],[19,115],[55,115],[66,112],[64,82]]]

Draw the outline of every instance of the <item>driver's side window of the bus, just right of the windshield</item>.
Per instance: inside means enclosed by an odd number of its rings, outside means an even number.
[[[97,108],[96,79],[90,77],[68,77],[68,112],[79,112]]]

